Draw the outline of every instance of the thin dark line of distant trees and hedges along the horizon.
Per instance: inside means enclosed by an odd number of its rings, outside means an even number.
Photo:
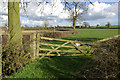
[[[56,26],[56,27],[21,27],[22,30],[70,30],[73,29],[72,26]],[[88,28],[88,29],[120,29],[120,26],[89,26],[89,27],[85,27],[85,26],[76,26],[77,29],[84,29],[84,28]],[[8,27],[1,27],[2,30],[7,30]]]

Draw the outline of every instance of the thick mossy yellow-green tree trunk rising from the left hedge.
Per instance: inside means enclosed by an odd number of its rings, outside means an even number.
[[[19,0],[8,2],[8,26],[10,45],[22,45],[22,32],[20,26]]]

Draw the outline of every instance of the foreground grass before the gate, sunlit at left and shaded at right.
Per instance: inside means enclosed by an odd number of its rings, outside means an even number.
[[[89,69],[91,57],[52,57],[42,60],[36,59],[27,64],[19,73],[11,78],[81,78],[80,71]],[[87,64],[87,65],[86,65]]]

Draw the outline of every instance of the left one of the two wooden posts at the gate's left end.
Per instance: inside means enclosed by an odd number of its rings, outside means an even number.
[[[36,54],[36,33],[32,33],[30,35],[30,47],[32,48],[32,58],[35,59],[35,54]]]

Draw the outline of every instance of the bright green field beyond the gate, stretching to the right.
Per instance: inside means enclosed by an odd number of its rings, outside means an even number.
[[[63,39],[93,42],[118,35],[118,29],[77,29],[79,33],[64,37]]]

